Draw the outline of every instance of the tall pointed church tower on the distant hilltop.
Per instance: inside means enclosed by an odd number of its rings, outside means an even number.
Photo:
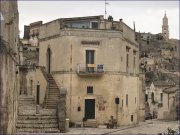
[[[165,40],[169,39],[169,26],[168,26],[168,18],[166,16],[166,12],[163,18],[163,24],[162,24],[162,34]]]

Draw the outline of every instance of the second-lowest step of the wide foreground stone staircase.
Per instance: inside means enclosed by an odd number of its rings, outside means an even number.
[[[16,125],[16,128],[38,128],[38,129],[41,129],[41,128],[58,128],[58,124],[57,123],[54,123],[54,124],[37,124],[37,123],[34,123],[34,124],[24,124],[24,123],[21,123],[21,124],[17,124]]]

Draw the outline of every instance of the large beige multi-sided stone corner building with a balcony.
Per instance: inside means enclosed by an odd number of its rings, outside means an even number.
[[[118,125],[136,124],[144,115],[138,63],[135,32],[122,19],[90,16],[42,24],[39,68],[45,70],[37,77],[40,104],[54,108],[59,97],[55,89],[63,87],[71,122],[87,119],[87,123],[104,124],[113,116]]]

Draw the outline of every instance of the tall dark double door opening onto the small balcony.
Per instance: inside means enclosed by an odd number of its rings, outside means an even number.
[[[86,70],[88,72],[93,72],[94,67],[90,67],[88,65],[94,64],[94,50],[86,50]]]

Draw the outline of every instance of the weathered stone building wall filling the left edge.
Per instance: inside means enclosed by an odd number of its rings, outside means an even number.
[[[0,134],[13,134],[19,92],[17,1],[1,1],[0,14]]]

